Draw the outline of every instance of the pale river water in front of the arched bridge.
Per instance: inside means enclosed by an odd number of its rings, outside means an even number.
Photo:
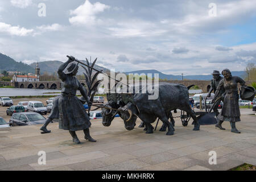
[[[46,92],[48,92],[46,94]],[[0,88],[0,97],[11,97],[11,96],[57,96],[60,90],[50,90],[50,89],[19,89],[19,88]],[[201,93],[202,90],[189,90],[189,93]],[[80,94],[80,92],[77,92]]]

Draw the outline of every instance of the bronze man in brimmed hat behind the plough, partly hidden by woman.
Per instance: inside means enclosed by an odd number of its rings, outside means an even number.
[[[218,84],[220,83],[220,81],[223,79],[223,77],[220,76],[220,72],[219,71],[216,71],[214,70],[213,73],[212,73],[212,76],[213,76],[213,79],[210,80],[210,90],[209,90],[209,93],[208,93],[208,97],[210,97],[210,93],[213,93],[215,94],[216,90],[217,90],[217,87],[218,87]],[[218,96],[217,97],[220,97],[222,96],[222,94],[225,92],[224,89],[221,89],[220,92],[218,92]],[[218,100],[217,104],[215,105],[215,107],[213,108],[213,111],[214,113],[216,113],[216,117],[217,115],[219,114],[218,112],[218,105],[220,104],[221,100],[223,99],[220,99]],[[217,126],[216,126],[217,127]]]

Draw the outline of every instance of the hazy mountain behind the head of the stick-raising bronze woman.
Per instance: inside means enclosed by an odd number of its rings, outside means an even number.
[[[96,61],[96,63],[97,63],[97,61]],[[37,63],[32,63],[32,64],[30,64],[30,66],[32,68],[36,68],[36,64]],[[63,64],[63,62],[61,62],[61,61],[42,61],[42,62],[39,62],[40,74],[42,75],[44,72],[55,73],[55,72],[57,72],[57,70],[59,69],[61,64]],[[81,64],[79,64],[79,65],[81,65]],[[99,71],[101,71],[103,69],[103,72],[108,72],[109,71],[109,69],[106,69],[104,67],[100,67],[97,64],[95,64],[93,68],[95,68]],[[84,68],[79,67],[79,71],[78,71],[77,75],[83,75],[83,72],[85,72]]]

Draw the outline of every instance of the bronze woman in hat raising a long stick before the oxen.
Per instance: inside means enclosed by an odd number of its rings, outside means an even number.
[[[79,98],[76,97],[76,91],[80,90],[80,93],[88,104],[91,103],[85,87],[75,77],[78,69],[79,67],[75,61],[75,57],[70,56],[68,61],[61,64],[57,71],[60,80],[63,81],[59,98],[59,129],[69,130],[75,143],[80,143],[76,135],[76,131],[78,130],[84,131],[84,138],[86,140],[96,142],[96,140],[90,137],[89,127],[91,123],[88,114]]]

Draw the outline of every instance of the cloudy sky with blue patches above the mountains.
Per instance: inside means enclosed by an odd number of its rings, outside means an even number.
[[[256,63],[256,1],[1,0],[0,52],[27,64],[98,57],[119,72],[242,71]]]

